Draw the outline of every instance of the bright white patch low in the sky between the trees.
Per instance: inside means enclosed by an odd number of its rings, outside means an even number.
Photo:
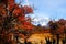
[[[50,19],[48,18],[43,18],[43,19],[34,18],[32,21],[34,25],[41,24],[42,26],[45,26],[47,25]]]

